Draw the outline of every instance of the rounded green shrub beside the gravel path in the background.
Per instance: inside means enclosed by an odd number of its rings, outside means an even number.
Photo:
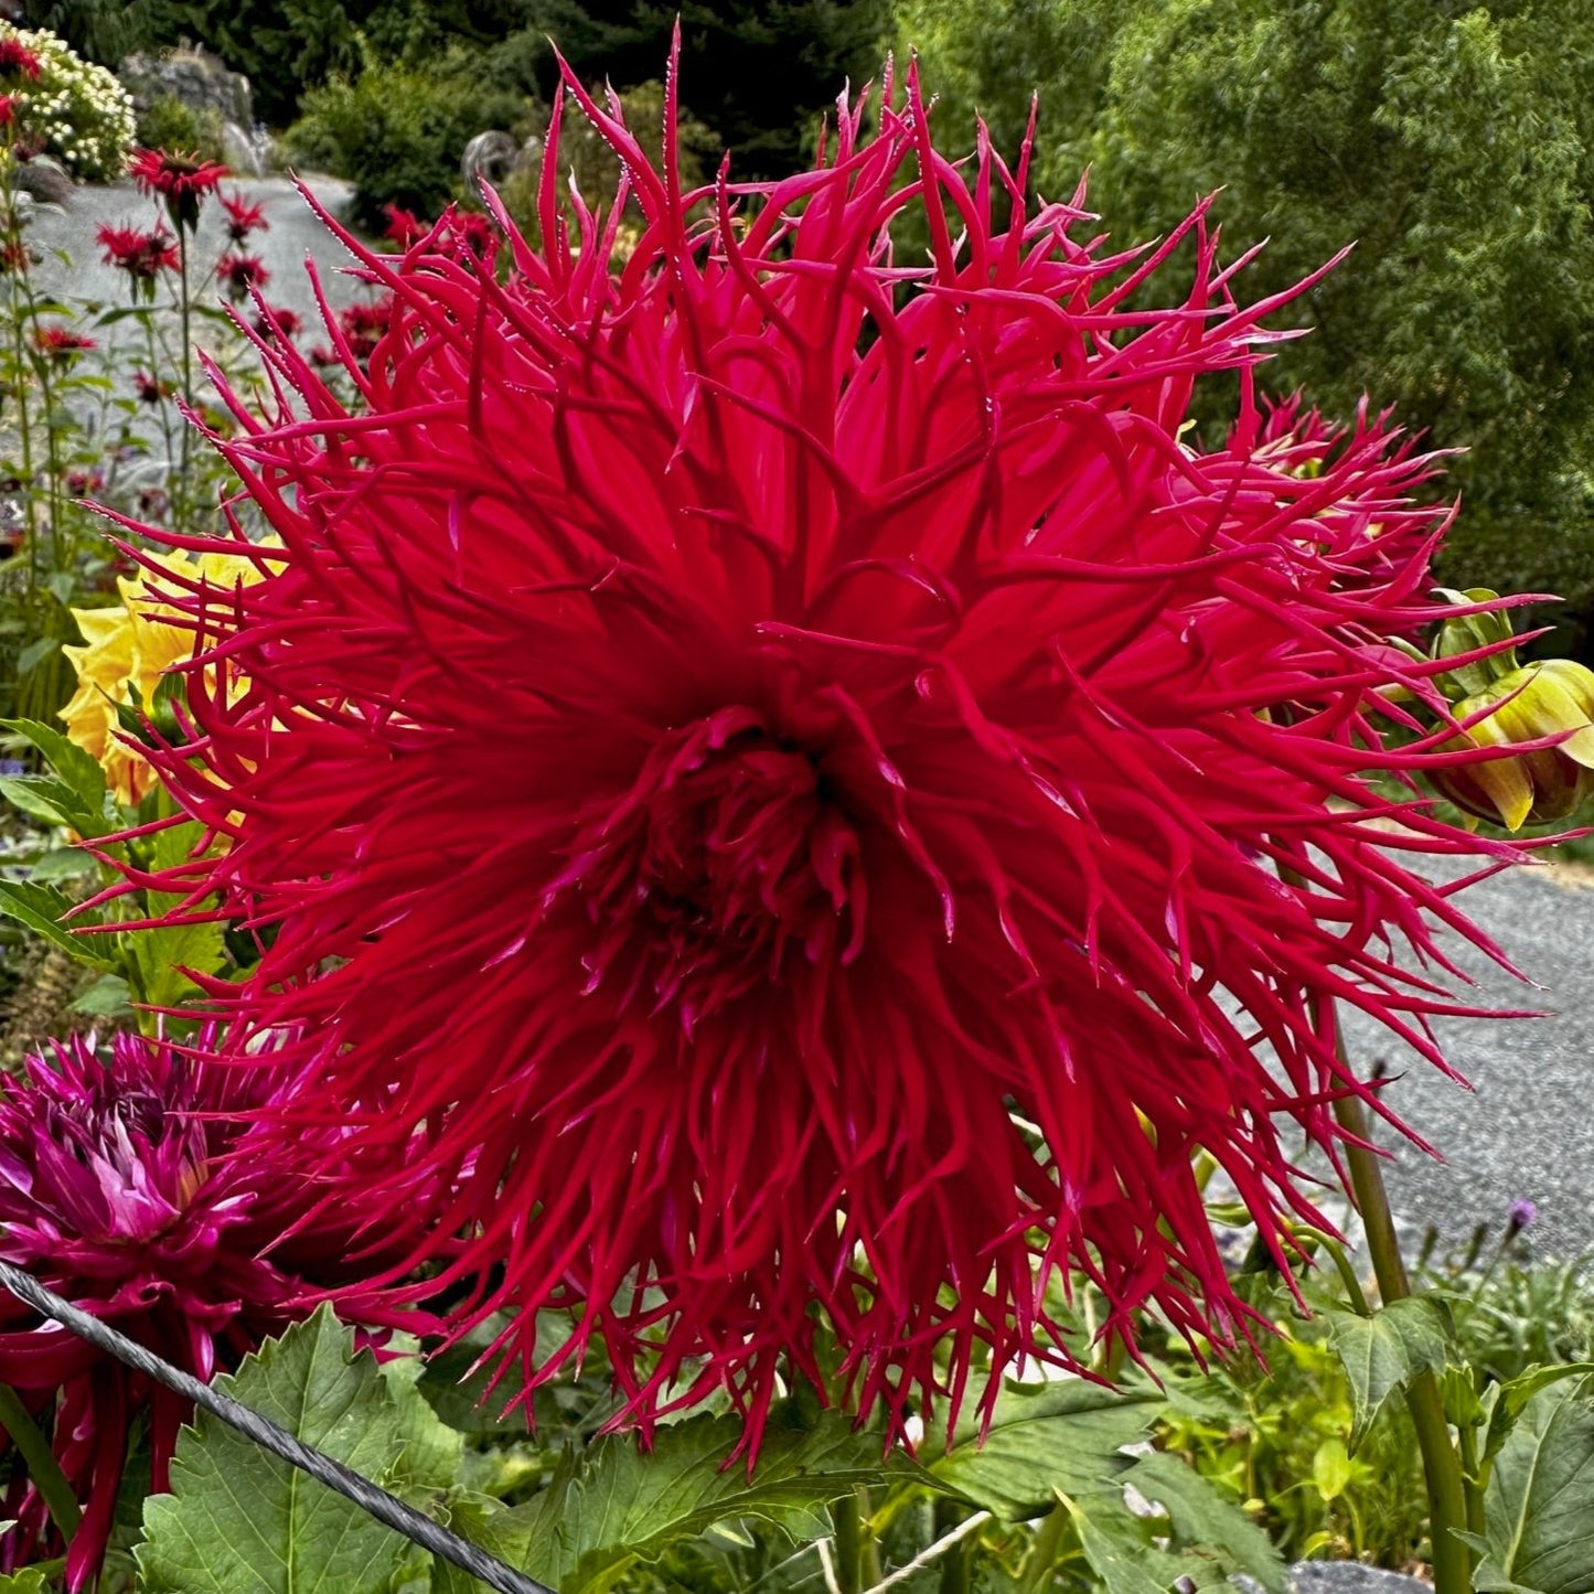
[[[529,100],[483,92],[477,65],[475,53],[457,46],[432,70],[368,59],[352,81],[333,78],[306,92],[284,156],[352,182],[362,226],[379,230],[389,204],[437,215],[461,191],[465,145],[489,128],[529,120]]]

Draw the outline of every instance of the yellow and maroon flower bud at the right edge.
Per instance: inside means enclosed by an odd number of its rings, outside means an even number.
[[[1446,741],[1449,752],[1468,744],[1506,748],[1564,735],[1554,748],[1538,748],[1513,759],[1455,765],[1433,771],[1446,797],[1481,819],[1521,830],[1576,813],[1594,797],[1594,671],[1570,658],[1522,665],[1486,690],[1455,705],[1459,720],[1497,705],[1460,736]]]

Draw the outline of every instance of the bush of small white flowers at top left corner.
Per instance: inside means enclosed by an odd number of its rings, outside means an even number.
[[[0,92],[14,100],[16,131],[56,156],[80,182],[112,182],[128,169],[135,116],[132,97],[115,73],[72,51],[45,29],[0,24],[0,40],[14,38],[38,57],[38,78],[13,73]]]

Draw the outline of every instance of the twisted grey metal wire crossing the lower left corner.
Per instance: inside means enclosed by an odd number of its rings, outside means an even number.
[[[480,1578],[488,1588],[499,1589],[501,1594],[555,1594],[547,1584],[526,1576],[524,1572],[516,1572],[512,1565],[472,1545],[470,1540],[451,1533],[440,1522],[434,1522],[429,1516],[416,1511],[414,1506],[405,1505],[397,1495],[391,1495],[386,1489],[373,1484],[363,1473],[357,1473],[352,1466],[344,1466],[343,1462],[317,1451],[314,1446],[304,1444],[289,1433],[287,1428],[279,1428],[269,1417],[261,1417],[258,1411],[239,1404],[230,1395],[222,1395],[210,1388],[209,1384],[201,1384],[191,1374],[183,1372],[182,1368],[174,1368],[169,1361],[163,1361],[151,1350],[128,1339],[126,1334],[116,1333],[115,1328],[80,1310],[70,1301],[64,1301],[53,1290],[46,1290],[37,1278],[30,1278],[10,1262],[0,1262],[0,1283],[19,1301],[26,1301],[33,1307],[35,1312],[54,1318],[64,1328],[70,1328],[73,1334],[86,1339],[107,1355],[155,1379],[156,1384],[163,1384],[172,1393],[191,1400],[196,1406],[210,1412],[210,1415],[228,1423],[228,1427],[238,1428],[239,1433],[253,1439],[255,1444],[271,1451],[273,1455],[279,1455],[284,1462],[309,1473],[317,1482],[336,1490],[346,1500],[352,1500],[362,1511],[368,1511],[378,1522],[386,1524],[395,1533],[403,1533],[413,1543],[430,1549],[434,1556],[442,1556],[462,1572]]]

